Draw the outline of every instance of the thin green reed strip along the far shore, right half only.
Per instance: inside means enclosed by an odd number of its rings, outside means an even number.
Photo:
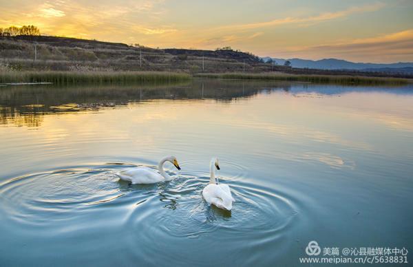
[[[269,81],[300,81],[309,83],[339,83],[346,85],[405,85],[412,83],[406,78],[388,78],[373,76],[339,76],[339,75],[299,75],[299,74],[245,74],[245,73],[222,73],[222,74],[196,74],[200,78],[224,78],[237,80],[269,80]]]

